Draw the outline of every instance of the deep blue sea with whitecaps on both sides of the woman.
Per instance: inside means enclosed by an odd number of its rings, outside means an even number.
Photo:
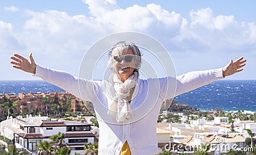
[[[55,92],[59,87],[42,80],[0,80],[1,93],[19,92]],[[175,97],[178,103],[187,103],[189,107],[200,110],[225,111],[249,110],[256,112],[256,80],[218,80],[190,92]]]

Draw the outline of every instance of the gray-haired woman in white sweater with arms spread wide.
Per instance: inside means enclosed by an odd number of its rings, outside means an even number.
[[[246,62],[241,57],[215,70],[142,80],[138,72],[141,66],[139,48],[134,43],[120,41],[109,53],[108,64],[114,73],[108,81],[93,81],[43,68],[35,63],[32,54],[29,59],[19,54],[11,59],[13,68],[33,73],[77,97],[83,96],[83,100],[92,101],[99,121],[99,154],[147,155],[158,153],[156,122],[164,99],[242,71]],[[177,84],[175,92],[170,84]]]

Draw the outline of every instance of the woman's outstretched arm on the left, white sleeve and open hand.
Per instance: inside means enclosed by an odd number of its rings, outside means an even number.
[[[81,93],[83,92],[83,100],[92,101],[95,97],[94,92],[99,89],[101,84],[100,82],[93,82],[92,80],[74,77],[65,71],[51,70],[50,68],[36,65],[32,53],[29,55],[29,59],[26,59],[19,54],[14,54],[11,59],[13,60],[11,61],[13,68],[33,73],[36,77],[40,77],[51,84],[61,87],[78,98],[81,98]]]

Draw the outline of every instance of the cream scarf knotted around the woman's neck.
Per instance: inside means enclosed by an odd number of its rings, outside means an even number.
[[[134,71],[131,77],[125,80],[125,82],[122,82],[116,73],[109,77],[109,82],[115,89],[115,97],[113,98],[113,103],[110,105],[108,114],[115,117],[118,123],[127,121],[133,115],[127,97],[130,96],[131,89],[137,84],[138,77],[138,71]]]

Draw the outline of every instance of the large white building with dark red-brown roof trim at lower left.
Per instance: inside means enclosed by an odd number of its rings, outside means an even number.
[[[84,154],[84,144],[94,143],[91,124],[77,121],[49,121],[48,117],[17,117],[1,122],[1,135],[14,140],[17,149],[27,149],[36,154],[36,145],[58,132],[65,134],[65,143],[75,152]]]

